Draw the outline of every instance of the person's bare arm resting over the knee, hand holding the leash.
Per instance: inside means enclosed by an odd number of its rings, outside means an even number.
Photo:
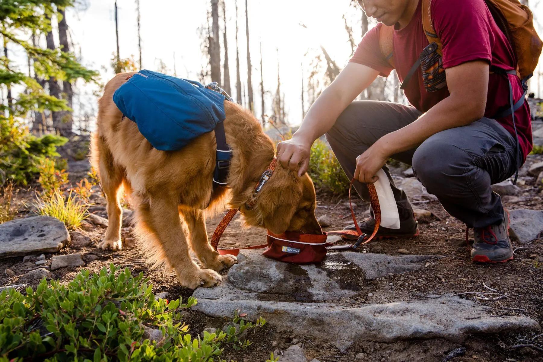
[[[450,96],[441,100],[415,122],[391,132],[357,157],[355,178],[377,181],[377,171],[396,153],[418,147],[438,132],[469,125],[484,116],[487,104],[489,63],[476,60],[445,70]]]

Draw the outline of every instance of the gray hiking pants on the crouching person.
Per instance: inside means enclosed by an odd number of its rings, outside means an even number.
[[[414,122],[421,112],[413,107],[380,101],[354,101],[339,116],[326,139],[345,174],[352,178],[356,157],[379,138]],[[490,188],[507,180],[523,160],[516,161],[515,138],[494,119],[481,118],[468,126],[441,131],[418,148],[392,155],[411,164],[415,177],[453,217],[468,227],[501,224],[500,196]],[[522,156],[520,156],[522,158]],[[517,164],[518,163],[518,164]],[[413,217],[407,195],[388,175],[400,220]],[[366,187],[355,182],[358,194],[369,200]]]

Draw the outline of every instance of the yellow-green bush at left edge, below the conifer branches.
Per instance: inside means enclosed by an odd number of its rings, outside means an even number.
[[[46,157],[60,156],[56,147],[68,141],[65,137],[30,135],[28,128],[12,117],[0,115],[0,167],[8,180],[26,185],[38,173]]]

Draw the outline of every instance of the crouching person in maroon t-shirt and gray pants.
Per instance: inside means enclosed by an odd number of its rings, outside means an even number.
[[[508,213],[490,186],[515,175],[532,149],[525,80],[517,69],[526,72],[536,60],[517,63],[518,47],[514,50],[514,40],[498,27],[485,0],[359,4],[379,23],[292,139],[279,144],[280,164],[304,173],[311,145],[326,134],[348,177],[375,182],[383,168],[401,221],[399,230],[381,227],[377,237],[384,238],[418,234],[412,206],[385,165],[388,158],[411,164],[446,211],[473,228],[472,261],[513,259]],[[539,55],[541,42],[533,34],[533,48],[521,50]],[[411,105],[353,101],[377,75],[388,76],[392,69]],[[356,190],[369,200],[361,183]],[[359,226],[371,234],[374,225],[370,218]]]

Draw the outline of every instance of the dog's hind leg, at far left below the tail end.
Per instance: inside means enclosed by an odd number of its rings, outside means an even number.
[[[98,244],[100,249],[119,250],[122,248],[121,242],[121,225],[122,225],[122,209],[119,201],[119,190],[123,181],[124,170],[115,165],[113,155],[101,137],[94,139],[98,148],[98,172],[100,182],[104,189],[104,196],[108,200],[108,228],[105,232],[105,237]]]

